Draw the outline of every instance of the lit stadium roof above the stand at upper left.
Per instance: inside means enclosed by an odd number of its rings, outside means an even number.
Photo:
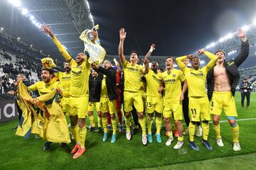
[[[82,30],[94,26],[87,0],[1,2],[0,26],[7,34],[21,38],[21,41],[33,45],[37,50],[43,50],[51,57],[61,58],[52,40],[40,32],[40,23],[50,26],[73,56],[83,50],[83,43],[79,39]]]

